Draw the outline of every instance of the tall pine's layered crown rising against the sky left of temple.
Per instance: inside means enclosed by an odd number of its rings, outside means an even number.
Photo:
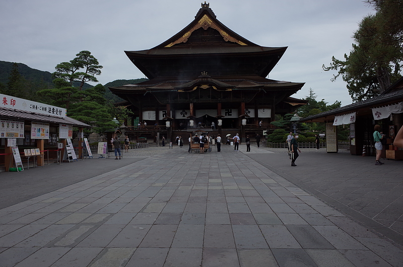
[[[52,75],[54,78],[68,81],[71,85],[74,82],[80,82],[79,90],[82,91],[86,82],[98,82],[95,75],[100,75],[102,68],[103,66],[99,65],[98,60],[90,51],[83,50],[69,62],[57,64],[56,72]]]

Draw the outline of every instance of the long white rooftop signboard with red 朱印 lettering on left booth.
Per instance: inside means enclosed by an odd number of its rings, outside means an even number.
[[[65,108],[51,106],[48,104],[43,104],[4,94],[0,94],[0,98],[2,100],[2,102],[0,102],[0,106],[2,107],[9,107],[13,109],[25,110],[45,115],[53,115],[57,117],[67,116],[67,110]]]

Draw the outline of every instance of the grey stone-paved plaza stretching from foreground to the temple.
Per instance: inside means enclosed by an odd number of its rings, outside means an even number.
[[[403,266],[401,162],[244,151],[0,173],[0,266]]]

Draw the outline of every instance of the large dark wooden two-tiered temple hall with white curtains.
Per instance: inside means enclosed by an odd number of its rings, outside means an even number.
[[[168,40],[148,50],[125,51],[148,81],[109,89],[147,123],[137,129],[141,135],[145,129],[155,131],[148,129],[155,125],[168,138],[172,131],[197,127],[252,137],[272,127],[275,114],[306,104],[291,97],[304,83],[266,79],[286,49],[238,35],[205,2],[194,20]]]

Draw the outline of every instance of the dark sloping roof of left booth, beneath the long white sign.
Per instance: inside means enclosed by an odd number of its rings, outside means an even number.
[[[56,117],[53,115],[44,115],[31,111],[24,111],[7,107],[0,107],[0,118],[30,120],[56,124],[71,124],[75,127],[91,127],[91,125],[70,117]]]

